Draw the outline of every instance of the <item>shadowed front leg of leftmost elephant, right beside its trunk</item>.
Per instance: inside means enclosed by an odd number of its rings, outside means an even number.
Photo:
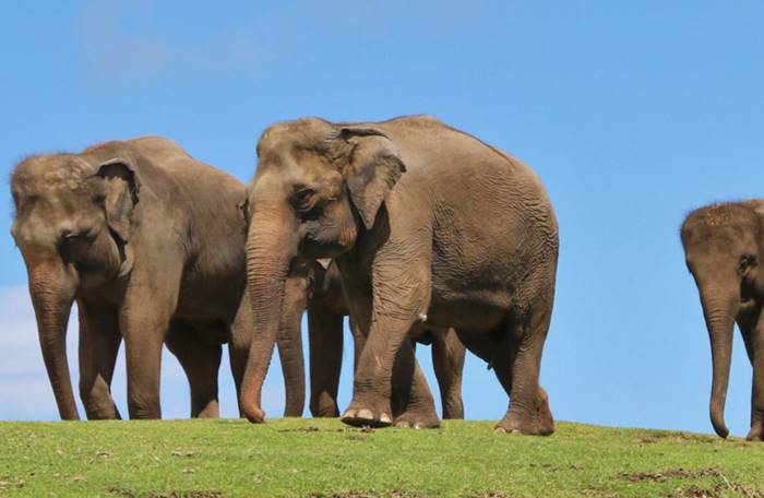
[[[122,342],[116,311],[77,304],[80,312],[80,398],[89,420],[121,418],[111,398],[111,376]]]

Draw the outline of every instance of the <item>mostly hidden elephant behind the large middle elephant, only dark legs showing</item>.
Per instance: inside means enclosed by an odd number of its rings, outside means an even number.
[[[350,313],[337,265],[315,262],[307,300],[310,337],[310,412],[314,417],[338,417],[337,389],[343,355],[343,321]],[[462,372],[464,345],[453,329],[423,327],[411,339],[432,345],[432,365],[441,392],[443,418],[464,418]],[[356,352],[358,353],[358,352]]]

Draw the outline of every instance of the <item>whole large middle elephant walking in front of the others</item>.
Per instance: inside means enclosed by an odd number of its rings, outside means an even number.
[[[456,330],[494,370],[511,400],[497,431],[553,431],[539,376],[559,228],[530,168],[427,116],[278,122],[256,151],[247,241],[255,327],[241,391],[250,422],[265,416],[260,392],[290,268],[330,258],[358,352],[343,422],[438,426],[406,341],[427,323]]]

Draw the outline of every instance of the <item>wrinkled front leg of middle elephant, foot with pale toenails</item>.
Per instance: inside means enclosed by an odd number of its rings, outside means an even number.
[[[409,330],[426,318],[429,307],[429,266],[407,268],[403,274],[390,274],[383,268],[378,264],[374,270],[370,313],[360,310],[359,316],[359,310],[350,306],[351,318],[367,337],[355,369],[353,401],[342,417],[354,426],[385,427],[393,423],[393,366],[404,341],[410,349]]]

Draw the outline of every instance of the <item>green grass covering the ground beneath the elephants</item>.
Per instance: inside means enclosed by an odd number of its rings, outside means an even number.
[[[0,495],[764,497],[764,443],[564,423],[548,438],[462,420],[0,423]]]

